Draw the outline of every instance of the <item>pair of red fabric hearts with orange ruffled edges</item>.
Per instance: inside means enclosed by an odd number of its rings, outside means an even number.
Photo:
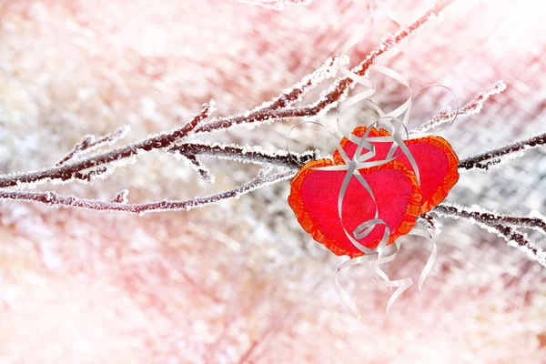
[[[359,126],[353,134],[364,136],[365,132],[366,128]],[[389,133],[372,128],[369,136],[389,136]],[[387,245],[408,234],[415,226],[417,217],[440,203],[455,185],[459,179],[459,159],[449,143],[438,136],[410,139],[405,143],[420,169],[420,184],[404,154],[379,166],[360,168],[359,174],[369,184],[375,202],[359,180],[351,176],[343,196],[341,217],[339,193],[347,170],[321,169],[343,165],[345,162],[339,152],[334,153],[333,161],[312,160],[301,167],[290,183],[288,196],[288,204],[301,227],[334,254],[349,255],[350,258],[364,253],[353,245],[346,234],[353,236],[355,228],[375,218],[376,208],[378,218],[389,227]],[[375,145],[376,156],[371,160],[385,159],[390,144],[372,144]],[[356,144],[343,138],[340,145],[349,157],[354,156]],[[385,228],[384,225],[376,225],[369,235],[356,240],[366,248],[377,248]]]

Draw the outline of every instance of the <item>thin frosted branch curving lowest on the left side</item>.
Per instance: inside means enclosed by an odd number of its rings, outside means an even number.
[[[144,215],[149,212],[190,210],[196,207],[205,207],[219,201],[238,198],[260,187],[283,181],[295,175],[293,170],[280,172],[271,176],[258,175],[252,181],[239,187],[207,197],[196,197],[185,201],[164,200],[146,204],[127,204],[119,200],[119,194],[113,201],[99,201],[74,196],[63,196],[56,192],[21,192],[0,190],[0,199],[16,201],[32,201],[47,204],[52,207],[80,207],[98,211],[119,211],[130,214]],[[123,193],[123,192],[122,192]],[[126,196],[126,195],[125,195]],[[123,196],[121,197],[123,198]]]

